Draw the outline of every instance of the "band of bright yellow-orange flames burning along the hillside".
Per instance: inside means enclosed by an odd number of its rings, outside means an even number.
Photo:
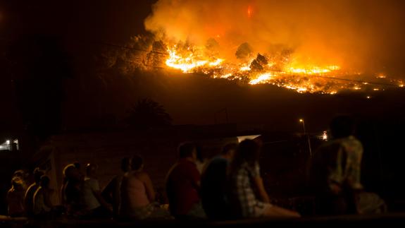
[[[359,72],[343,71],[340,66],[314,66],[299,64],[291,56],[274,54],[249,55],[239,61],[227,61],[207,54],[204,47],[168,45],[166,66],[183,73],[202,73],[211,78],[241,80],[250,85],[268,83],[297,92],[319,92],[335,95],[340,90],[365,90],[368,83],[360,80],[340,79],[341,76],[359,76]],[[377,78],[387,76],[379,73]],[[401,81],[394,81],[404,87]],[[373,86],[375,92],[383,90]]]

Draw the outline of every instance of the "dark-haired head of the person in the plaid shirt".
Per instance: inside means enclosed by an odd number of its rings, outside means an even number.
[[[260,155],[260,147],[254,140],[243,140],[239,143],[237,151],[235,152],[235,160],[238,160],[241,164],[248,162],[254,164],[258,161]]]

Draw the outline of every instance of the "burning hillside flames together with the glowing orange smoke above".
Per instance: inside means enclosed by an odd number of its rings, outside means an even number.
[[[145,20],[155,40],[147,65],[297,92],[404,87],[382,73],[391,44],[373,25],[397,28],[399,11],[367,3],[160,0]],[[365,23],[372,13],[386,19]]]

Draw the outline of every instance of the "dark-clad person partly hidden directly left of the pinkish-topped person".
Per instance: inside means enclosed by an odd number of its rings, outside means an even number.
[[[113,205],[113,215],[118,216],[119,215],[119,208],[120,208],[120,202],[121,202],[121,195],[120,195],[120,189],[121,189],[121,184],[123,181],[123,176],[125,173],[130,171],[130,158],[129,157],[124,157],[123,160],[121,160],[121,174],[118,174],[117,176],[114,176],[114,178],[107,184],[107,186],[104,188],[103,192],[101,195],[103,198],[108,202]]]

